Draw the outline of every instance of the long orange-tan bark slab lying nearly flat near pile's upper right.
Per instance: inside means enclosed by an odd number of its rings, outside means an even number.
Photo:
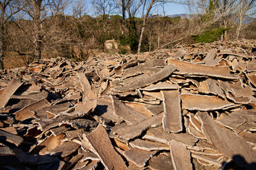
[[[168,64],[174,64],[175,67],[178,67],[178,72],[176,72],[176,74],[208,76],[223,79],[238,79],[238,77],[230,74],[229,67],[204,66],[200,64],[193,64],[190,62],[181,62],[174,59],[169,59]]]

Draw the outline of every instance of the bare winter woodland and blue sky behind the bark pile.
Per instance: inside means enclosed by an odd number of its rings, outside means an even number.
[[[188,17],[165,16],[166,4],[186,6]],[[112,39],[119,54],[256,39],[255,6],[256,0],[1,0],[0,69],[41,58],[86,60]]]

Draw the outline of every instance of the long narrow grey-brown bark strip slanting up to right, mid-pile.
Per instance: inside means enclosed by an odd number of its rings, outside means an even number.
[[[164,67],[159,72],[152,75],[151,77],[149,77],[146,80],[142,79],[142,80],[137,81],[136,83],[131,84],[129,86],[117,87],[114,89],[114,91],[117,91],[117,92],[133,91],[135,89],[139,89],[144,86],[148,86],[149,84],[156,83],[156,82],[160,81],[161,79],[169,77],[169,75],[172,72],[174,72],[174,70],[176,70],[176,67],[174,67],[174,65],[167,65],[166,67]]]

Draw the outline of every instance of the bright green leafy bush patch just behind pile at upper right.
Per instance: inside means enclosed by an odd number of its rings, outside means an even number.
[[[203,42],[203,43],[208,43],[208,42],[213,42],[215,40],[218,40],[220,38],[220,35],[222,35],[225,30],[228,30],[229,28],[212,28],[203,31],[203,33],[199,35],[193,36],[193,40],[196,42]]]

